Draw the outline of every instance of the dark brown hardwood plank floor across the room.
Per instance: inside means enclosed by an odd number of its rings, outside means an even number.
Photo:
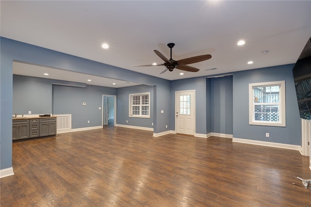
[[[310,207],[298,151],[104,127],[13,143],[1,207]]]

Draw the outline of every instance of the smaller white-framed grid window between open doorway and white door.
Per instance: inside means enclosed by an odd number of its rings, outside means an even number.
[[[150,118],[150,92],[129,95],[129,117]]]

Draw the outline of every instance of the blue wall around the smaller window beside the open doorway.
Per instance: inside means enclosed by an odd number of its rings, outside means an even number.
[[[129,117],[129,94],[150,92],[150,118]],[[126,120],[128,123],[126,123]],[[153,128],[154,122],[154,86],[137,85],[118,88],[117,124]]]

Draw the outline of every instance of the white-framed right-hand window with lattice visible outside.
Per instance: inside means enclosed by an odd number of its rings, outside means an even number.
[[[249,84],[249,124],[286,127],[285,81]]]

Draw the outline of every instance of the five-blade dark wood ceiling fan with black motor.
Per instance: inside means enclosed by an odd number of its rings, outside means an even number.
[[[179,61],[175,61],[172,59],[172,48],[175,46],[175,44],[169,43],[169,44],[167,44],[167,46],[169,48],[171,48],[170,60],[167,59],[161,52],[154,50],[155,54],[157,54],[157,56],[159,56],[164,61],[164,64],[134,64],[132,66],[159,66],[159,65],[164,65],[165,68],[161,71],[160,74],[166,72],[167,70],[173,71],[174,68],[177,68],[179,70],[190,71],[190,72],[198,72],[200,69],[195,68],[195,67],[191,67],[191,66],[186,65],[186,64],[198,63],[201,61],[208,60],[212,57],[211,55],[199,55],[199,56],[194,56],[194,57],[190,57],[190,58],[181,59]]]

